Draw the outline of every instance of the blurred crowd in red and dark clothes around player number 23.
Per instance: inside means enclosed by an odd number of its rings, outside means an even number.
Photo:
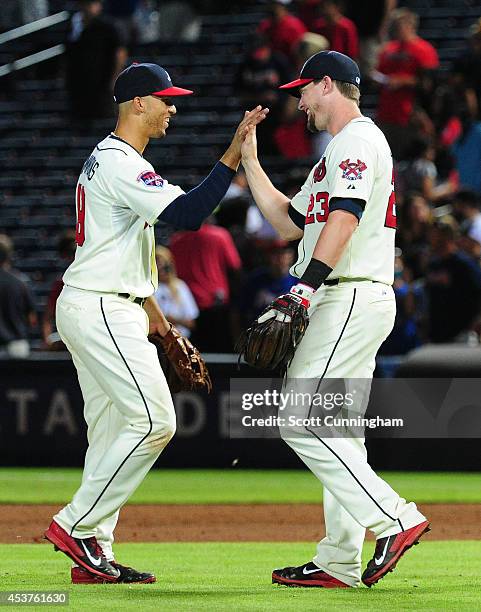
[[[270,16],[239,69],[246,105],[261,101],[273,108],[275,121],[266,122],[259,136],[261,153],[319,159],[329,135],[307,133],[297,101],[277,88],[317,51],[332,49],[358,61],[361,93],[374,100],[367,111],[395,162],[398,315],[381,353],[402,355],[426,342],[477,345],[481,19],[466,32],[465,49],[440,70],[438,53],[419,36],[413,11],[397,7],[396,0],[376,0],[369,8],[359,10],[349,0],[270,3]],[[295,191],[301,183],[292,178],[288,187]]]

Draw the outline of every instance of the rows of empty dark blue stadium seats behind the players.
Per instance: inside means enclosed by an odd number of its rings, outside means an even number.
[[[481,15],[481,2],[414,0],[399,3],[416,11],[419,33],[437,48],[441,69],[465,47],[468,27]],[[51,12],[73,10],[75,3],[51,1]],[[200,38],[138,45],[130,61],[155,61],[165,66],[179,86],[195,97],[179,105],[167,139],[151,142],[149,160],[169,181],[188,189],[199,182],[222,154],[241,111],[236,68],[249,36],[265,16],[265,4],[246,2],[242,12],[202,17]],[[0,45],[0,66],[65,40],[68,21]],[[38,312],[43,312],[52,279],[64,265],[56,239],[75,226],[74,186],[84,159],[114,120],[72,127],[62,75],[62,58],[3,77],[0,94],[0,227],[15,245],[14,266],[34,281]],[[363,111],[372,115],[376,95],[363,97]],[[281,183],[293,162],[264,160],[274,182]],[[310,160],[301,160],[309,166]]]

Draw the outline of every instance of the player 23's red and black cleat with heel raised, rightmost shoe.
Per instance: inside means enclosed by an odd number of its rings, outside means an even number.
[[[388,572],[392,572],[396,563],[411,546],[419,542],[419,538],[429,531],[429,521],[423,521],[406,531],[396,533],[376,541],[374,557],[367,564],[362,575],[362,581],[368,587],[376,584]]]

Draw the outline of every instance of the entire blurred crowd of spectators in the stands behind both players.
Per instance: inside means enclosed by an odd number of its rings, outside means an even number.
[[[195,8],[195,3],[186,4]],[[102,11],[112,17],[114,5],[115,20],[101,19]],[[85,66],[82,53],[95,52],[96,58],[103,53],[97,69],[107,70],[106,82],[111,83],[138,36],[138,5],[133,0],[82,2],[72,19],[71,69],[75,62]],[[466,32],[465,49],[440,70],[436,49],[417,33],[415,13],[397,7],[396,0],[372,0],[369,5],[369,11],[360,11],[358,3],[349,0],[268,2],[268,16],[246,45],[236,93],[246,108],[264,104],[271,109],[259,128],[260,154],[293,160],[292,171],[278,185],[292,196],[330,136],[309,134],[297,101],[278,86],[295,77],[306,58],[319,50],[341,51],[359,62],[361,93],[374,100],[369,114],[384,131],[395,162],[398,314],[381,353],[403,355],[428,342],[477,345],[481,19]],[[149,15],[151,19],[152,12]],[[195,35],[195,28],[192,32]],[[110,45],[110,54],[102,45]],[[94,77],[85,73],[84,78]],[[69,85],[73,105],[81,100],[74,91],[78,85],[78,80]],[[83,104],[83,112],[99,112],[102,100],[103,111],[111,112],[108,87],[97,92],[99,104]],[[175,233],[159,246],[156,297],[167,317],[203,351],[231,352],[240,330],[295,282],[289,268],[296,248],[280,241],[260,216],[240,172],[222,206],[198,232]],[[74,234],[59,237],[65,265],[74,249]],[[43,347],[58,348],[54,312],[61,279],[53,283],[46,311],[37,313],[34,288],[12,267],[12,250],[8,237],[0,236],[0,350],[17,356],[28,351],[25,341],[35,325],[41,329]]]

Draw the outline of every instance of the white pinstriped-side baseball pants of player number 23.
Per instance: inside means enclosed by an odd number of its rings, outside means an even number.
[[[393,289],[383,283],[320,287],[287,378],[371,379],[376,353],[392,330],[395,312]],[[322,438],[311,428],[300,432],[289,425],[281,428],[281,436],[324,485],[326,536],[317,546],[314,563],[357,586],[366,528],[377,538],[385,537],[417,525],[424,516],[372,470],[364,438]]]

